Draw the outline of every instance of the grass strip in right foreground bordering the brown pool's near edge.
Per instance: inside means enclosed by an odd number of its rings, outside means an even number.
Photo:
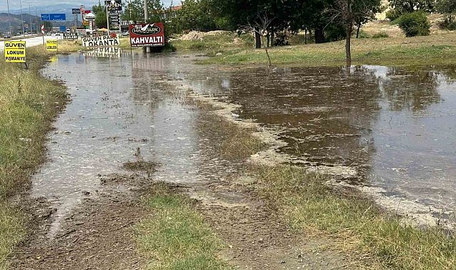
[[[419,229],[384,214],[354,190],[334,190],[323,175],[296,166],[258,166],[259,193],[296,232],[344,239],[346,248],[386,269],[456,269],[456,239],[442,228]],[[381,267],[380,267],[381,268]]]

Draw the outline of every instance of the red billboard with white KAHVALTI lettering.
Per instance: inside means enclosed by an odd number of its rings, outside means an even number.
[[[164,46],[163,23],[136,23],[129,25],[132,47]]]

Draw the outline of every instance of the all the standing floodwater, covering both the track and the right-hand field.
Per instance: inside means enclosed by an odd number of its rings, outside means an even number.
[[[104,188],[102,175],[122,173],[138,156],[159,164],[154,178],[176,183],[226,173],[225,161],[205,154],[198,112],[159,80],[241,105],[240,119],[279,134],[287,142],[279,151],[302,166],[355,168],[344,180],[447,215],[455,208],[456,67],[216,70],[177,55],[120,55],[59,55],[43,70],[73,99],[50,136],[52,162],[33,179],[33,197],[57,209],[51,237]]]

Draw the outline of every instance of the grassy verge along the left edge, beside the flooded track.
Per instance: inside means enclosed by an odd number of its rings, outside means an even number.
[[[6,269],[6,257],[25,237],[28,222],[9,198],[28,187],[45,160],[46,134],[67,101],[64,87],[38,72],[46,50],[28,48],[27,58],[29,70],[0,60],[0,269]]]

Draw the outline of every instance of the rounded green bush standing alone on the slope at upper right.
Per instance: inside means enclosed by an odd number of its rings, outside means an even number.
[[[423,11],[405,13],[397,19],[398,26],[405,36],[429,36],[430,23]]]

